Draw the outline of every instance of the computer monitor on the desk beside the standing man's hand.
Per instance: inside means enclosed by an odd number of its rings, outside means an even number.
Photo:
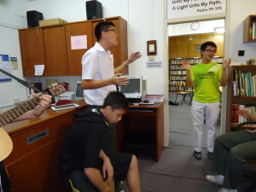
[[[145,84],[142,76],[122,76],[129,78],[129,84],[119,86],[119,91],[128,99],[140,99],[145,96]]]

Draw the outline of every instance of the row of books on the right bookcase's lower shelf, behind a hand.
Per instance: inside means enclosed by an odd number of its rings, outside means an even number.
[[[238,115],[238,113],[236,113],[238,110],[241,109],[246,109],[247,111],[249,111],[250,113],[252,113],[254,116],[256,115],[256,108],[255,105],[251,104],[251,105],[240,105],[240,104],[232,104],[232,125],[238,125],[244,122],[249,121],[249,119],[245,119],[244,117],[242,117],[241,115]]]

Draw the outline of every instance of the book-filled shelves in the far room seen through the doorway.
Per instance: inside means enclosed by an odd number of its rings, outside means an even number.
[[[175,92],[175,84],[183,84],[186,81],[186,69],[183,67],[182,61],[184,58],[171,59],[169,61],[169,91]],[[191,66],[201,62],[201,57],[185,58],[189,61]],[[213,62],[223,63],[223,57],[214,57]],[[190,87],[186,87],[186,90],[192,90]]]

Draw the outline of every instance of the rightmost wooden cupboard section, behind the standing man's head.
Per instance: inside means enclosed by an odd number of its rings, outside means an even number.
[[[119,67],[123,61],[127,60],[127,24],[126,20],[121,17],[107,19],[112,21],[115,25],[116,31],[119,34],[119,45],[110,49],[113,54],[113,67]],[[92,22],[92,30],[94,32],[95,26],[102,20],[96,20]],[[93,43],[96,43],[96,37],[93,36]]]

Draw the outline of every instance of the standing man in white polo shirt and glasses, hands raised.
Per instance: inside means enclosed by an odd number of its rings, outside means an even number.
[[[131,62],[141,57],[139,51],[132,53],[119,67],[113,68],[110,48],[118,45],[119,34],[113,22],[102,21],[96,25],[97,42],[82,58],[82,88],[84,100],[90,108],[102,106],[104,98],[110,91],[116,90],[116,85],[125,85],[129,79],[119,77]]]

